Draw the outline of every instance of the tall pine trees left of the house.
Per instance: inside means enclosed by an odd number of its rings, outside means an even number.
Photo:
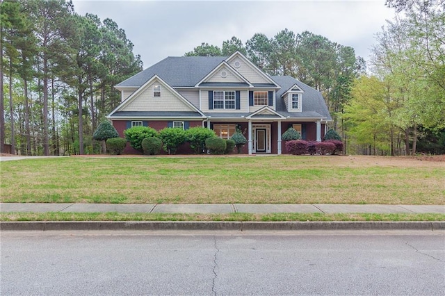
[[[8,139],[13,154],[92,153],[120,103],[113,85],[143,67],[124,30],[71,1],[2,1],[0,13],[0,151]]]

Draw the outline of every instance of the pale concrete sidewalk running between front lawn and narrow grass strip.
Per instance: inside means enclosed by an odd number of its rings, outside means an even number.
[[[445,206],[385,204],[14,204],[0,203],[0,213],[442,213]]]

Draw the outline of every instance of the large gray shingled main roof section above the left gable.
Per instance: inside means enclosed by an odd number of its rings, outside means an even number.
[[[157,74],[174,88],[193,87],[226,58],[227,56],[169,56],[116,86],[139,88]]]

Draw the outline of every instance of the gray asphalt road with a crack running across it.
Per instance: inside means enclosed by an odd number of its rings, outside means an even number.
[[[1,295],[444,295],[444,231],[2,231]]]

